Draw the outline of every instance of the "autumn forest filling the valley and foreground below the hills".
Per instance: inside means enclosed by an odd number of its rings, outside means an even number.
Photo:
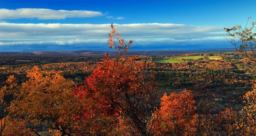
[[[255,136],[253,28],[225,28],[236,52],[129,56],[111,25],[114,57],[0,56],[0,136]]]

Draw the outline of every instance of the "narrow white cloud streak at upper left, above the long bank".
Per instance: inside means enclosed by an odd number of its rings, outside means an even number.
[[[0,9],[0,19],[38,18],[38,19],[64,19],[69,17],[95,17],[103,13],[96,11],[67,11],[50,9]]]

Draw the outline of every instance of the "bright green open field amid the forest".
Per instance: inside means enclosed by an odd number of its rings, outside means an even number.
[[[220,59],[220,56],[207,56],[209,59]],[[204,58],[204,56],[189,56],[189,57],[177,57],[177,59],[194,59],[197,60],[199,58]],[[161,59],[156,59],[154,58],[153,61],[157,61],[157,62],[169,62],[169,63],[180,63],[180,62],[184,62],[182,60],[177,60],[177,59],[170,59],[170,58],[161,58]]]

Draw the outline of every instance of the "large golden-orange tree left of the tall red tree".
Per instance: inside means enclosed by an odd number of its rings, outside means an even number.
[[[75,103],[79,97],[71,93],[73,81],[67,81],[59,72],[41,71],[37,66],[27,77],[29,80],[19,87],[13,108],[30,131],[39,136],[42,134],[38,129],[49,128],[62,136],[78,133],[81,128],[72,118],[81,106]]]

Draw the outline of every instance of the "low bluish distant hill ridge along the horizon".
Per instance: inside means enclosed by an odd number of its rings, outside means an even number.
[[[145,55],[145,56],[169,56],[175,54],[189,54],[202,52],[230,52],[236,51],[233,48],[226,49],[207,49],[207,50],[159,50],[159,51],[130,51],[127,55]],[[0,56],[104,56],[109,54],[109,57],[116,56],[114,51],[33,51],[33,52],[0,52]]]

